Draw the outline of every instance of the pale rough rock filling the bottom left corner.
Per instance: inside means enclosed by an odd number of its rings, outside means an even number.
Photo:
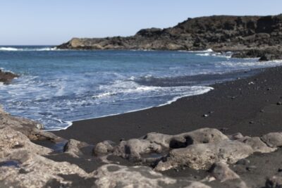
[[[90,177],[77,165],[51,161],[24,149],[10,153],[6,160],[18,161],[18,167],[13,165],[0,166],[0,182],[4,182],[4,187],[44,187],[50,180],[68,184],[66,187],[70,187],[69,180],[64,180],[62,175]]]

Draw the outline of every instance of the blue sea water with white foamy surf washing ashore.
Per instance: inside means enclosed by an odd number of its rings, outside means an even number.
[[[207,51],[72,51],[0,46],[0,68],[20,75],[0,85],[13,115],[60,130],[74,120],[125,113],[209,92],[209,84],[281,61],[230,58]],[[251,73],[251,72],[250,72]]]

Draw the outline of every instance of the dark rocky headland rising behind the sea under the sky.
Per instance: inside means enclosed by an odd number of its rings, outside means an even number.
[[[175,27],[140,30],[131,37],[73,38],[59,49],[232,51],[236,58],[282,58],[282,15],[188,18]]]

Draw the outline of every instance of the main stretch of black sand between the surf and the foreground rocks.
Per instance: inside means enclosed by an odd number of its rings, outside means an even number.
[[[147,132],[178,134],[214,127],[225,134],[259,136],[281,131],[282,68],[265,68],[255,76],[221,84],[172,104],[105,118],[80,120],[59,137],[89,144],[142,137]],[[204,117],[207,116],[207,117]]]

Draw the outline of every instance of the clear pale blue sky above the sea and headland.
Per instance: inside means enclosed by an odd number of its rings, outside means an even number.
[[[274,15],[282,0],[1,0],[0,45],[128,36],[202,15]]]

